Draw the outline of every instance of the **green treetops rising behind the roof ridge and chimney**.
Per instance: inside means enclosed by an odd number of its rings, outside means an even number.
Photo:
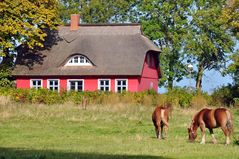
[[[60,17],[68,23],[71,14],[80,14],[82,23],[130,21],[136,0],[60,0]]]

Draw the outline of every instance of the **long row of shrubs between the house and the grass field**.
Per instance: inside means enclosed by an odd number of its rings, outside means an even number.
[[[143,105],[160,105],[171,103],[176,107],[205,107],[208,105],[230,105],[232,103],[225,102],[226,97],[223,90],[215,91],[211,96],[207,93],[198,94],[196,91],[186,88],[174,88],[165,94],[157,94],[153,90],[144,92],[130,93],[112,93],[112,92],[54,92],[48,89],[13,89],[1,88],[0,95],[9,96],[14,102],[21,103],[43,103],[43,104],[62,104],[72,102],[74,104],[82,104],[83,100],[87,100],[88,104],[108,104],[131,103]],[[239,98],[233,98],[234,104],[238,104]],[[226,100],[227,101],[227,100]]]

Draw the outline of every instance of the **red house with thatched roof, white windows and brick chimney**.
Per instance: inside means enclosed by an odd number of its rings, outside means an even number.
[[[17,88],[138,92],[158,89],[160,50],[139,24],[78,24],[50,32],[45,47],[18,48]]]

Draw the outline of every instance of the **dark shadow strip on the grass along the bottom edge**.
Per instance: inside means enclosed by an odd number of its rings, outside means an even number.
[[[30,150],[21,148],[0,147],[0,159],[170,159],[161,156],[150,155],[121,155],[121,154],[100,154],[64,152],[55,150]]]

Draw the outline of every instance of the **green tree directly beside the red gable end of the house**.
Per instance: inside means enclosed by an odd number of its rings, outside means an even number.
[[[164,77],[161,83],[166,82],[169,89],[187,72],[183,48],[191,5],[191,0],[142,0],[139,4],[144,33],[162,50]]]

